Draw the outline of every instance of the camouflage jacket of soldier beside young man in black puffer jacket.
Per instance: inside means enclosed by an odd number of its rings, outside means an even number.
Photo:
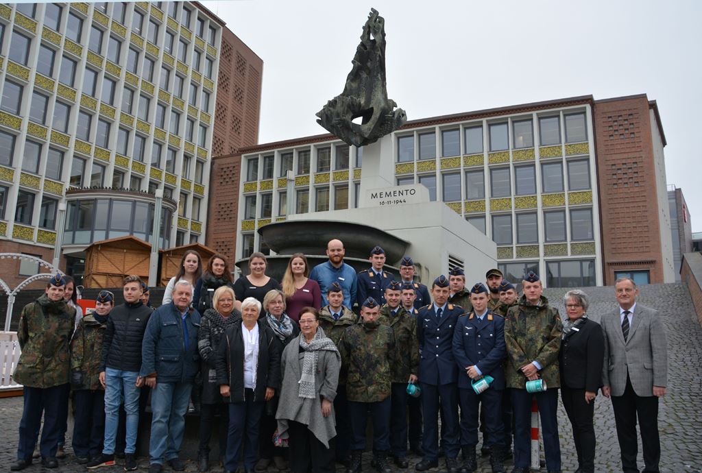
[[[72,389],[103,389],[100,385],[100,354],[105,328],[107,320],[100,324],[93,314],[81,319],[71,339]]]

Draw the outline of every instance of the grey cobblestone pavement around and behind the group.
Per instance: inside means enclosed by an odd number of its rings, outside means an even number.
[[[614,290],[611,287],[585,288],[590,295],[588,316],[599,321],[601,315],[616,307]],[[547,289],[545,295],[550,303],[559,307],[563,314],[561,301],[563,289]],[[656,284],[642,286],[639,302],[649,307],[656,307],[665,319],[668,331],[668,394],[661,401],[658,415],[661,429],[661,472],[702,473],[702,328],[696,322],[691,309],[691,300],[687,288],[680,284]],[[559,403],[560,404],[560,403]],[[19,397],[0,399],[0,471],[8,471],[9,464],[15,460],[18,424],[22,415],[22,399]],[[571,426],[565,411],[559,406],[559,436],[561,440],[561,457],[564,472],[574,472],[577,467],[575,448],[572,444]],[[597,472],[621,472],[619,447],[614,427],[614,415],[608,399],[598,397],[595,404],[595,426],[597,429],[597,452],[595,463]],[[70,445],[70,432],[67,433],[67,445]],[[69,449],[68,449],[69,450]],[[641,446],[639,446],[641,452]],[[543,458],[543,451],[542,451]],[[140,458],[140,471],[148,469],[148,459]],[[364,454],[364,471],[374,471],[370,466],[371,453]],[[419,458],[411,456],[410,470]],[[511,470],[511,460],[505,463]],[[639,466],[643,467],[641,453]],[[434,469],[441,471],[441,468]],[[168,468],[166,468],[166,471]],[[75,463],[70,453],[66,460],[60,460],[58,469],[44,469],[32,465],[26,472],[81,472],[86,471]],[[122,471],[121,465],[98,471]],[[187,472],[197,471],[194,458],[186,463]],[[222,472],[218,465],[213,465],[212,472]],[[273,469],[270,469],[272,472]],[[277,470],[276,470],[277,471]],[[343,467],[339,466],[339,472]],[[479,460],[479,473],[490,472],[487,458]],[[541,471],[545,472],[545,468]]]

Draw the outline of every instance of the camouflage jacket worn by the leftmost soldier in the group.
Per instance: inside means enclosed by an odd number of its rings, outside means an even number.
[[[17,337],[22,354],[13,379],[29,387],[53,387],[68,382],[69,340],[76,309],[41,295],[22,309]]]

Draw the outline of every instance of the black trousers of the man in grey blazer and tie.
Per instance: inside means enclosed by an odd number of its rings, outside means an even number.
[[[626,377],[626,388],[621,396],[612,396],[616,435],[621,451],[621,465],[625,473],[638,472],[636,455],[636,418],[639,418],[641,444],[644,450],[644,472],[657,473],[661,461],[661,439],[658,437],[658,398],[637,396]]]

